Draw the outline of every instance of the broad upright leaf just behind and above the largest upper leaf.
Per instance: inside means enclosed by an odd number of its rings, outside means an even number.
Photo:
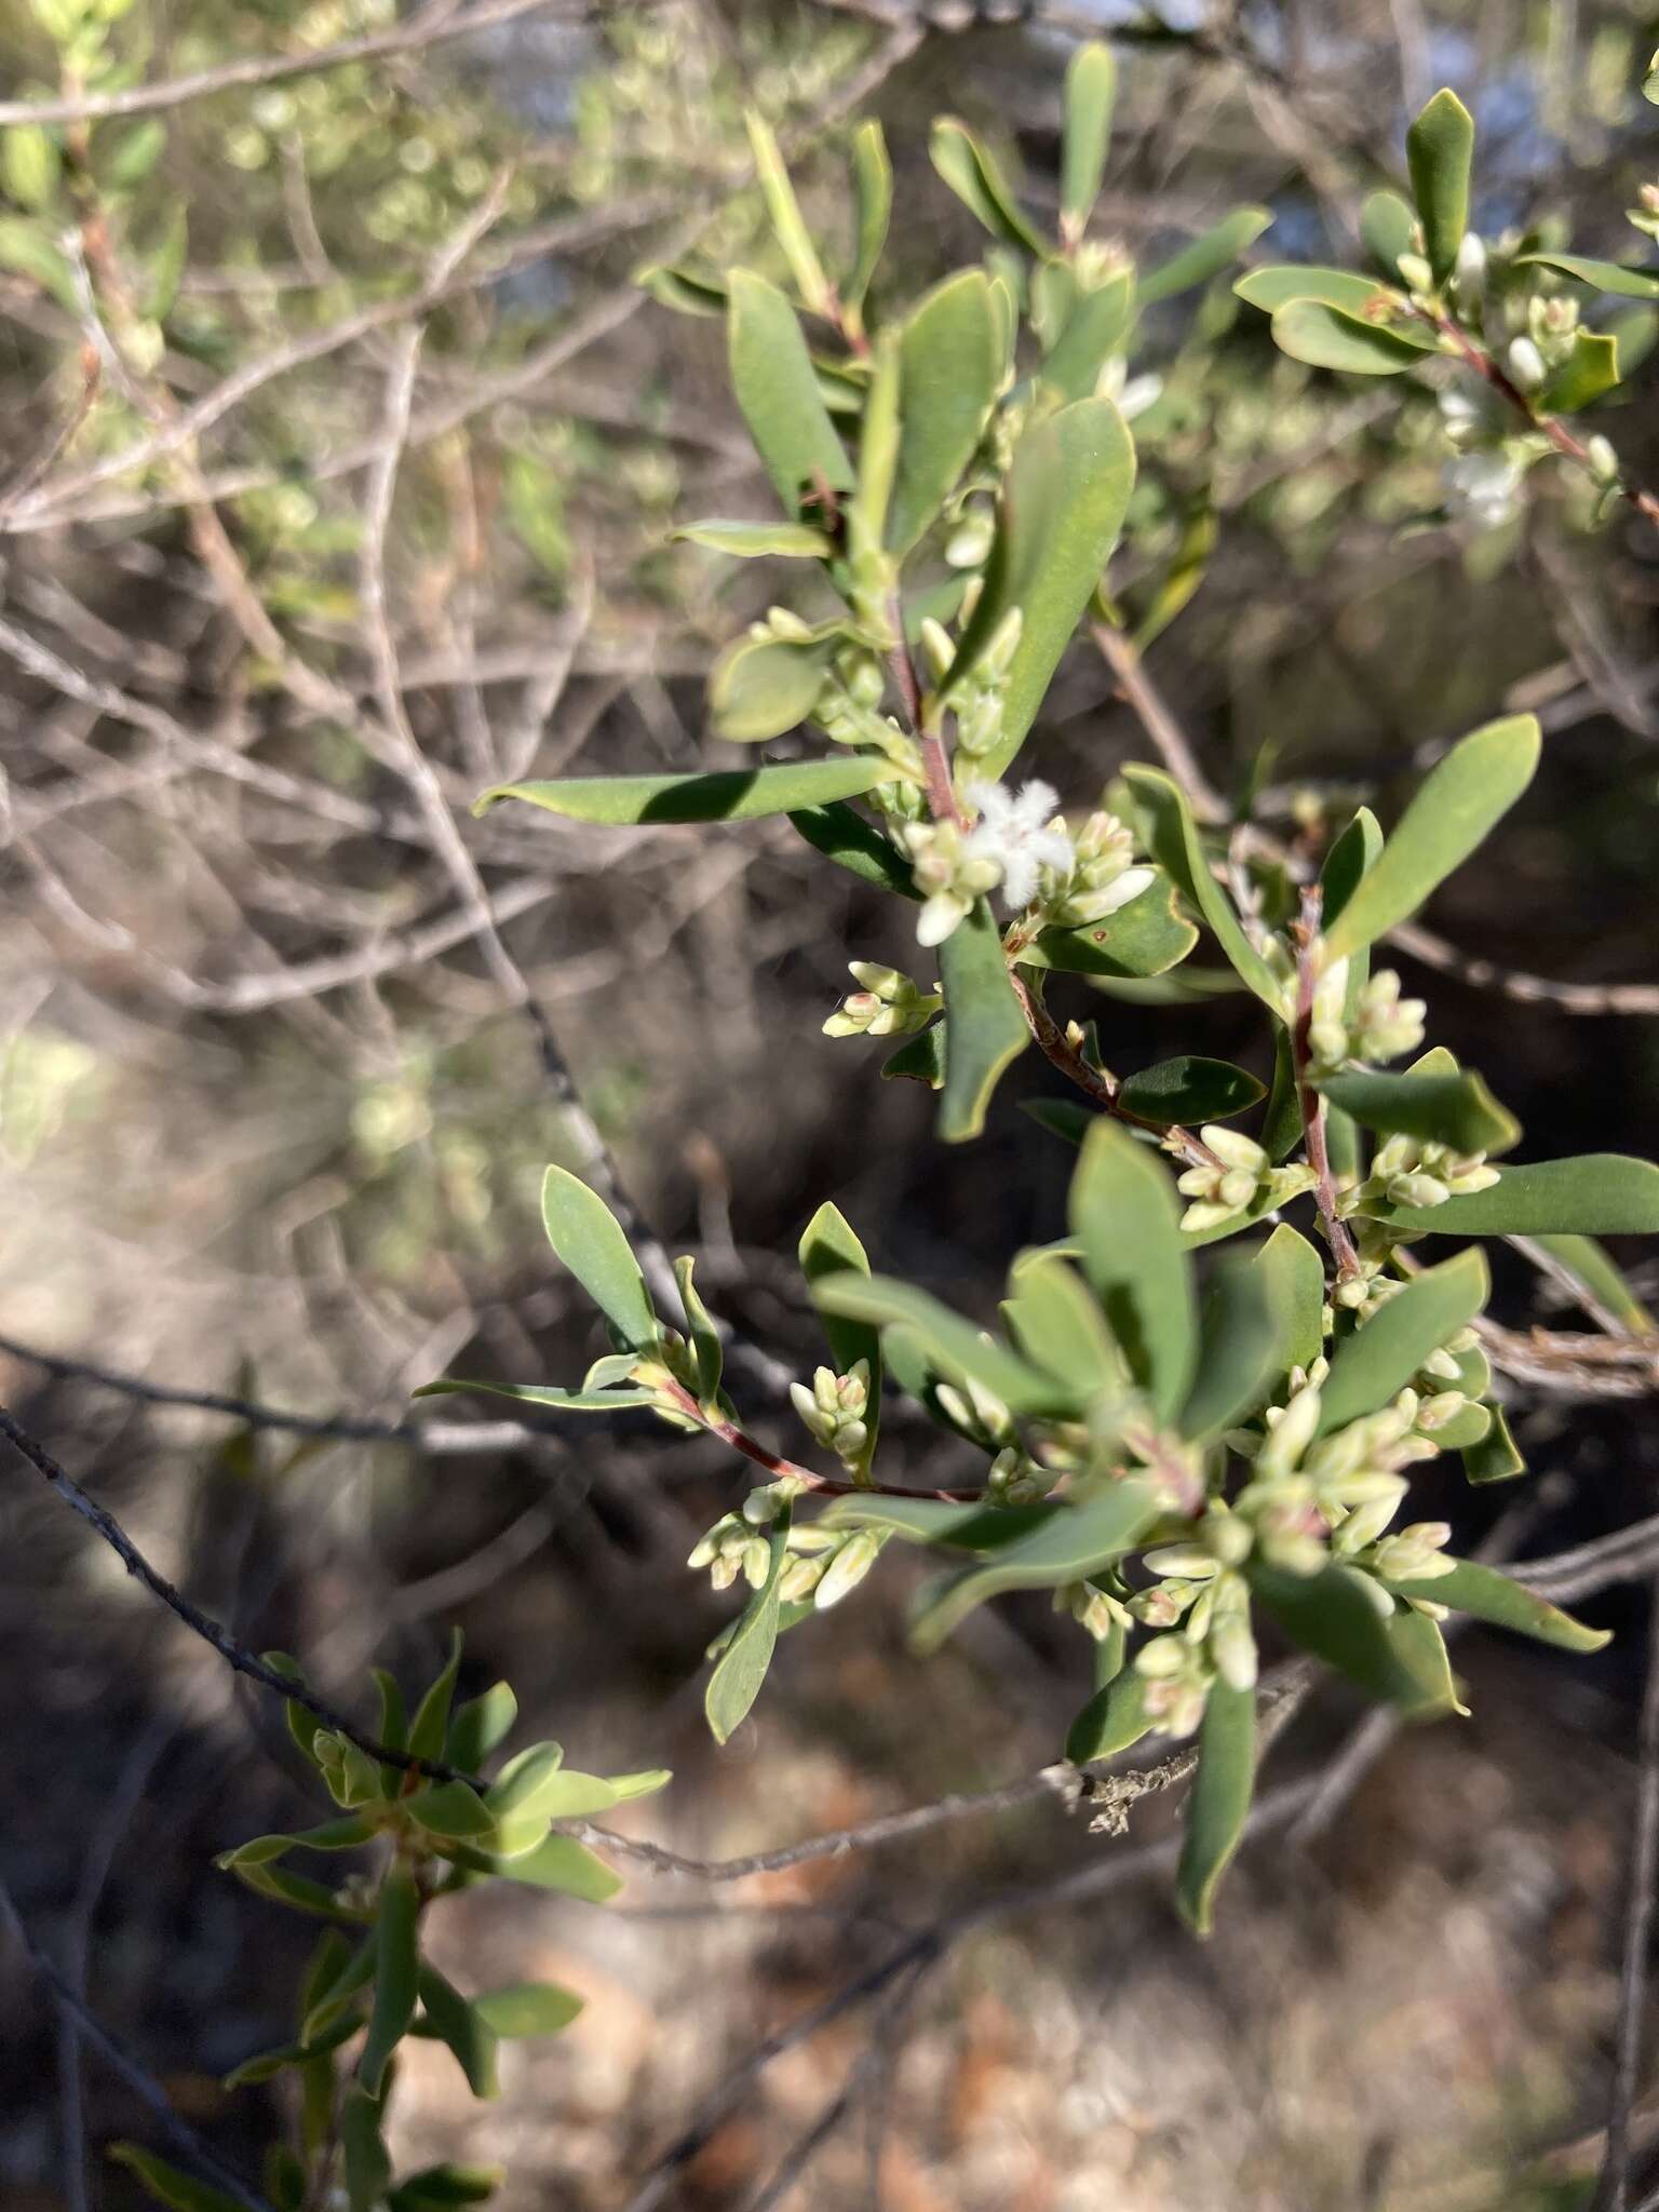
[[[938,518],[984,431],[1002,345],[984,270],[960,270],[911,312],[898,338],[898,482],[887,546],[905,555]]]

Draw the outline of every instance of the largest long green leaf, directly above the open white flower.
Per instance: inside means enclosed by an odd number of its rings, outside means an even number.
[[[984,591],[942,692],[978,664],[1011,608],[1020,644],[1002,684],[1002,737],[982,774],[1002,776],[1037,719],[1077,617],[1099,584],[1135,484],[1135,447],[1110,400],[1073,400],[1031,422],[1002,482]]]

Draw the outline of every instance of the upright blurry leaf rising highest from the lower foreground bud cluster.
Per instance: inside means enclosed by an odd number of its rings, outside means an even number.
[[[1192,1385],[1197,1307],[1175,1183],[1148,1146],[1099,1119],[1071,1179],[1071,1225],[1113,1336],[1159,1420]]]

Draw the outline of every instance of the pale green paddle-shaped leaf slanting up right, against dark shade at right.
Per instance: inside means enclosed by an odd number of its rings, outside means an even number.
[[[1509,814],[1533,781],[1542,737],[1533,714],[1473,730],[1425,776],[1394,836],[1327,931],[1334,958],[1409,920]]]

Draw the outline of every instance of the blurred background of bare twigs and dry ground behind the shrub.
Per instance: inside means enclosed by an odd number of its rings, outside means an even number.
[[[104,13],[115,88],[396,24],[392,0]],[[730,1601],[684,1557],[737,1493],[706,1440],[319,1438],[150,1405],[84,1363],[387,1427],[445,1369],[568,1376],[586,1321],[535,1186],[549,1159],[591,1168],[593,1126],[641,1217],[790,1371],[816,1332],[787,1254],[825,1197],[876,1265],[987,1310],[1009,1250],[1053,1234],[1068,1155],[1018,1113],[1033,1066],[982,1144],[940,1152],[925,1091],[818,1035],[849,951],[905,958],[852,878],[781,823],[599,841],[515,810],[467,821],[489,781],[719,761],[703,675],[783,588],[668,542],[697,513],[765,513],[765,487],[719,321],[668,312],[637,272],[772,252],[745,106],[825,223],[843,126],[878,113],[898,168],[883,285],[909,296],[982,250],[927,164],[929,119],[969,117],[1053,204],[1060,77],[1097,29],[1121,64],[1099,230],[1144,261],[1243,201],[1274,212],[1256,252],[1345,259],[1440,82],[1480,124],[1482,230],[1548,221],[1637,259],[1624,208],[1655,179],[1637,86],[1659,33],[1626,0],[476,13],[469,35],[71,128],[0,179],[0,1396],[246,1641],[352,1690],[369,1661],[431,1663],[458,1619],[467,1679],[509,1674],[575,1763],[675,1767],[637,1832],[739,1851],[1040,1767],[1077,1703],[1073,1639],[1011,1601],[918,1668],[894,1573],[790,1639],[714,1754],[699,1666]],[[55,88],[40,20],[0,0],[0,95]],[[1626,365],[1652,321],[1624,310]],[[1356,792],[1398,807],[1440,741],[1537,710],[1544,770],[1495,865],[1438,900],[1409,980],[1531,1150],[1650,1152],[1652,529],[1593,526],[1551,467],[1509,513],[1460,511],[1433,396],[1290,363],[1225,276],[1148,319],[1133,376],[1152,383],[1113,588],[1203,772],[1296,834]],[[1597,427],[1652,482],[1646,369]],[[1079,646],[1033,765],[1088,803],[1144,754]],[[465,825],[465,865],[436,816]],[[551,1066],[476,945],[471,867]],[[1181,1000],[1183,1044],[1248,1057],[1228,995]],[[1168,1051],[1155,991],[1077,1011],[1115,1066]],[[1548,1285],[1515,1263],[1498,1312],[1548,1318]],[[776,1385],[743,1387],[783,1438]],[[1639,1398],[1513,1411],[1540,1469],[1515,1544],[1641,1509],[1659,1440]],[[931,1449],[922,1484],[947,1480]],[[1498,1515],[1449,1511],[1460,1533]],[[0,1520],[0,1874],[190,2124],[250,2157],[274,2093],[232,2101],[219,2077],[281,2037],[303,1929],[208,1860],[294,1816],[281,1721],[15,1467]],[[1639,1630],[1617,1593],[1590,1617]],[[852,2079],[794,2203],[1582,2203],[1632,1646],[1566,1661],[1469,1639],[1480,1719],[1378,1745],[1316,1832],[1250,1860],[1203,1955],[1155,1880],[1082,1909],[1044,1891],[1104,1849],[1057,1803],[730,1896],[635,1876],[606,1911],[456,1905],[460,1955],[555,1973],[588,2008],[515,2053],[482,2117],[440,2059],[414,2068],[403,2148],[504,2163],[509,2212],[626,2205],[653,2172],[641,2203],[770,2203]],[[1305,1756],[1349,1725],[1329,1692]],[[964,1927],[902,2004],[849,2006],[721,2101],[757,2037],[894,1924],[1009,1882],[1033,1898]],[[1659,2101],[1641,2110],[1646,2141]],[[97,2146],[144,2128],[13,1964],[4,2203],[133,2203]]]

